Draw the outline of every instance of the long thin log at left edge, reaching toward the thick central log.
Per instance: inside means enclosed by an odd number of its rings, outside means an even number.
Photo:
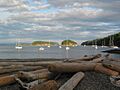
[[[17,72],[17,71],[31,71],[31,70],[37,70],[37,69],[43,69],[42,66],[25,66],[25,67],[14,67],[14,68],[2,68],[0,69],[0,74],[5,73],[11,73],[11,72]]]

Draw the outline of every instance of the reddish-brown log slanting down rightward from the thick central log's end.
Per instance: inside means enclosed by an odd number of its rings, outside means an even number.
[[[95,71],[101,72],[110,76],[117,76],[119,75],[119,72],[111,70],[109,68],[104,67],[101,63],[97,64],[95,67]]]

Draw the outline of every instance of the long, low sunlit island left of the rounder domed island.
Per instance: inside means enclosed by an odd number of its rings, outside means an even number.
[[[32,45],[33,46],[55,46],[55,45],[58,45],[57,42],[49,42],[49,41],[34,41],[32,42]]]

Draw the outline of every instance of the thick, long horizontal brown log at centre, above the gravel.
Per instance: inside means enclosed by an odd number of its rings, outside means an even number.
[[[48,66],[51,72],[79,72],[94,70],[96,63],[54,63]]]

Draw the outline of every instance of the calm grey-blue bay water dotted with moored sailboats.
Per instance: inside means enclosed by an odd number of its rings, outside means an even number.
[[[16,50],[14,45],[0,45],[0,59],[28,59],[28,58],[79,58],[84,55],[93,55],[101,53],[102,50],[108,48],[98,47],[96,50],[90,46],[71,47],[67,52],[65,47],[59,48],[53,46],[51,48],[44,47],[44,51],[39,51],[37,46],[24,46],[22,50]],[[112,54],[114,58],[120,58],[120,54]]]

